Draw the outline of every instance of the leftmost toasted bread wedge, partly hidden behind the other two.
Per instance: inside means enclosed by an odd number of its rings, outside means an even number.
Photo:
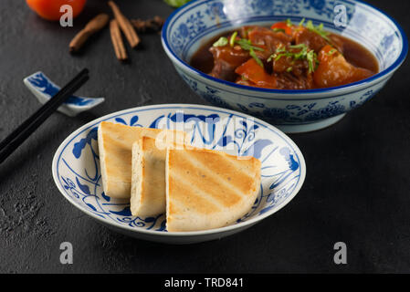
[[[162,134],[163,133],[163,134]],[[101,180],[104,193],[113,198],[131,197],[132,144],[142,136],[184,141],[184,132],[131,127],[102,121],[98,130]]]

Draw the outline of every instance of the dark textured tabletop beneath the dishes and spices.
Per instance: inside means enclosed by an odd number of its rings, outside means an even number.
[[[168,16],[161,0],[121,1],[128,16]],[[372,1],[410,32],[410,2]],[[79,94],[106,102],[77,118],[54,114],[0,165],[1,273],[173,272],[410,272],[410,109],[407,60],[362,108],[326,130],[292,135],[308,175],[295,199],[247,231],[198,245],[160,245],[111,232],[58,193],[51,160],[58,145],[84,123],[131,107],[203,103],[176,76],[157,35],[142,36],[131,63],[113,56],[108,30],[68,54],[68,42],[90,16],[109,11],[89,0],[62,28],[29,11],[24,1],[0,4],[0,139],[37,109],[23,85],[43,70],[58,84],[87,67]],[[74,264],[59,263],[59,245],[74,248]],[[348,265],[333,264],[333,245],[348,247]]]

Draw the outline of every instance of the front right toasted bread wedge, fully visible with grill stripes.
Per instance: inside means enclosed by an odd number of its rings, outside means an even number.
[[[166,226],[169,232],[232,224],[257,199],[261,162],[222,151],[173,150],[166,155]]]

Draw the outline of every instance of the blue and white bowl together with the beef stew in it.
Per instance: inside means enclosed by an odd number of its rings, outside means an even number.
[[[403,64],[408,42],[402,27],[372,5],[338,1],[346,13],[340,26],[334,1],[317,4],[196,0],[168,17],[163,48],[206,102],[285,132],[319,130],[383,89]],[[253,27],[253,36],[242,27]]]

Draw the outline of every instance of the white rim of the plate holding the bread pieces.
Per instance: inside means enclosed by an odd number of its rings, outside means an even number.
[[[146,230],[142,228],[134,228],[129,225],[121,225],[118,224],[115,221],[107,220],[104,218],[101,218],[97,214],[92,213],[89,211],[87,208],[81,206],[79,203],[77,203],[73,198],[71,198],[68,193],[65,192],[63,186],[61,183],[59,183],[59,178],[58,178],[58,161],[60,160],[62,152],[67,148],[68,144],[71,143],[76,137],[79,136],[80,133],[82,133],[84,130],[89,130],[90,128],[94,127],[95,125],[99,124],[103,120],[109,120],[112,119],[116,116],[122,115],[122,114],[127,114],[132,112],[132,110],[161,110],[164,107],[166,108],[174,108],[174,109],[204,109],[204,110],[214,110],[214,111],[219,111],[223,112],[226,114],[234,114],[239,117],[244,117],[244,118],[252,118],[255,120],[255,122],[260,123],[261,125],[267,127],[270,130],[273,130],[281,139],[284,141],[288,142],[289,145],[293,148],[294,151],[296,151],[299,155],[300,159],[300,180],[298,185],[295,187],[293,190],[292,194],[289,195],[289,197],[281,203],[278,208],[272,208],[271,210],[268,210],[264,214],[260,214],[258,216],[255,216],[253,218],[248,219],[247,221],[242,221],[237,224],[230,224],[224,227],[219,227],[219,228],[214,228],[214,229],[208,229],[208,230],[198,230],[198,231],[188,231],[188,232],[158,232],[155,230]],[[59,193],[61,193],[66,200],[68,200],[69,203],[73,204],[76,208],[79,209],[79,211],[88,214],[90,217],[97,219],[100,223],[102,224],[109,224],[110,226],[117,227],[123,230],[135,232],[135,233],[141,233],[144,235],[152,235],[152,236],[166,236],[166,237],[181,237],[181,236],[201,236],[201,235],[215,235],[218,233],[226,233],[234,230],[241,230],[242,228],[245,227],[250,227],[253,224],[257,224],[258,222],[262,221],[263,219],[267,218],[268,216],[277,213],[280,209],[285,207],[291,200],[294,199],[294,197],[300,192],[300,189],[306,179],[306,162],[305,158],[303,156],[302,151],[300,151],[300,148],[298,145],[292,141],[287,134],[276,128],[275,126],[269,124],[268,122],[264,120],[259,120],[258,118],[252,117],[246,113],[239,112],[236,110],[227,110],[223,108],[218,108],[218,107],[213,107],[213,106],[206,106],[206,105],[201,105],[201,104],[185,104],[185,103],[170,103],[170,104],[154,104],[154,105],[149,105],[149,106],[143,106],[143,107],[136,107],[136,108],[131,108],[127,110],[119,110],[112,112],[110,114],[107,114],[105,116],[102,116],[98,119],[95,120],[90,120],[88,123],[84,124],[83,126],[79,127],[79,129],[74,130],[71,132],[64,141],[61,142],[61,144],[58,146],[58,150],[54,153],[53,161],[52,161],[52,167],[51,167],[51,172],[53,176],[54,183],[56,184]]]

